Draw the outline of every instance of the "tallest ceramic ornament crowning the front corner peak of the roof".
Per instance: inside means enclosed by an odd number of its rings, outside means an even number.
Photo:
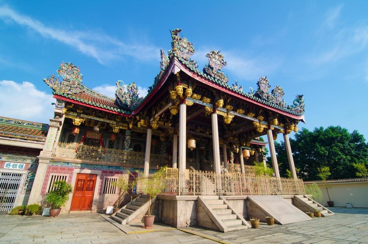
[[[187,38],[181,38],[179,33],[181,29],[174,29],[171,31],[171,38],[173,41],[171,42],[172,49],[169,51],[169,57],[180,57],[185,61],[190,60],[190,56],[195,53],[193,43],[189,42]]]

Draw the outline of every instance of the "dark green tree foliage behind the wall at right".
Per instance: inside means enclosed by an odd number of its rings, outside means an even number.
[[[368,167],[368,144],[362,134],[346,128],[329,126],[309,131],[302,128],[290,138],[295,167],[298,176],[304,180],[330,180],[364,177]],[[280,174],[287,176],[289,163],[285,144],[275,142]],[[328,172],[326,175],[326,168]],[[323,173],[321,174],[321,169]],[[323,177],[323,178],[322,178]]]

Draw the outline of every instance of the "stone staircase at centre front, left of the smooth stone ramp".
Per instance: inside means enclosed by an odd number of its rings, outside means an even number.
[[[220,231],[245,230],[251,227],[222,196],[199,196],[198,201]]]

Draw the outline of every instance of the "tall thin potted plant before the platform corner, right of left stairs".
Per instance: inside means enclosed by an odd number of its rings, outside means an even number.
[[[155,215],[152,215],[153,204],[155,203],[156,196],[163,193],[166,186],[165,180],[166,166],[162,167],[155,174],[149,177],[149,180],[144,185],[144,192],[149,195],[148,215],[144,215],[144,228],[151,229],[153,222],[155,221]],[[151,206],[151,199],[152,206]]]

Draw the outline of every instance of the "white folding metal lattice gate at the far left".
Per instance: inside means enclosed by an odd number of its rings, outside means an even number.
[[[10,211],[21,193],[25,173],[0,172],[0,211]]]

